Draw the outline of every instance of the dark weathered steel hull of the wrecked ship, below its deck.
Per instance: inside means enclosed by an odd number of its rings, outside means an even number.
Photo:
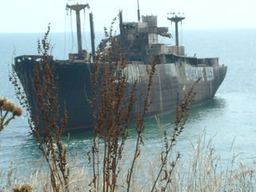
[[[28,59],[30,58],[30,59]],[[91,98],[90,75],[94,64],[85,62],[54,62],[54,74],[58,77],[58,100],[60,110],[66,107],[68,113],[67,131],[90,130],[94,125],[92,110],[88,99]],[[15,58],[14,69],[21,79],[32,113],[35,113],[36,99],[32,85],[34,70],[37,65],[30,56]],[[156,66],[156,74],[152,84],[153,102],[148,115],[162,114],[172,111],[182,96],[198,78],[202,78],[194,87],[197,93],[195,104],[205,102],[214,94],[226,76],[226,66],[191,66],[186,63],[165,63]],[[126,67],[125,73],[129,85],[138,79],[138,93],[146,90],[146,65],[133,62]],[[135,108],[141,109],[142,102],[137,102]]]

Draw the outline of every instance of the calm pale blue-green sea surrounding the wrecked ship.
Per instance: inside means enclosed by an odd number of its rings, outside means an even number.
[[[37,54],[38,38],[43,34],[0,34],[0,96],[18,103],[14,87],[8,80],[14,57],[22,54]],[[102,33],[97,33],[100,42]],[[54,45],[54,58],[65,59],[68,53],[76,51],[75,36],[65,33],[50,34]],[[90,49],[90,36],[83,37]],[[174,44],[173,39],[162,41]],[[179,141],[182,154],[189,154],[190,140],[205,133],[213,138],[213,147],[220,157],[238,155],[238,162],[253,163],[256,159],[256,29],[232,30],[184,30],[181,43],[186,54],[200,58],[219,58],[228,66],[226,78],[214,99],[194,107]],[[174,114],[161,117],[162,124],[173,120]],[[143,135],[145,146],[154,154],[155,143],[160,142],[161,131],[154,118],[147,119]],[[129,143],[133,143],[131,135]],[[91,134],[72,134],[66,140],[69,154],[84,154],[90,150]],[[233,144],[233,145],[232,145]],[[232,152],[230,147],[232,146]],[[132,146],[131,146],[132,149]],[[26,115],[10,122],[0,133],[0,170],[25,169],[27,172],[38,168],[41,154],[37,143],[30,135]],[[40,163],[39,163],[40,164]],[[224,165],[223,165],[224,166]]]

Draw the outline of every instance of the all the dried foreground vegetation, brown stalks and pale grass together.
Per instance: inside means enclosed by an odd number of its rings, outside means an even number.
[[[59,113],[57,79],[54,64],[49,62],[49,32],[50,27],[45,38],[38,42],[38,53],[44,59],[34,66],[36,113],[31,113],[14,71],[10,74],[20,104],[30,114],[31,134],[38,142],[47,170],[35,170],[29,178],[18,179],[10,172],[3,179],[6,181],[3,191],[254,191],[254,169],[241,166],[236,170],[234,159],[225,170],[219,169],[218,154],[210,143],[202,142],[203,138],[193,143],[190,154],[175,150],[196,96],[193,86],[178,104],[174,122],[170,122],[167,129],[158,122],[159,131],[162,131],[161,145],[146,147],[142,135],[158,61],[152,59],[147,67],[146,90],[138,92],[138,81],[132,86],[127,83],[125,69],[128,63],[122,46],[115,45],[112,28],[106,31],[106,41],[102,42],[94,62],[93,93],[87,98],[94,111],[94,137],[91,148],[86,149],[88,157],[84,158],[84,166],[77,168],[76,162],[68,160],[62,141],[68,117],[66,113]],[[142,102],[143,107],[136,111],[134,106],[138,102]],[[136,133],[134,142],[128,139],[132,120]],[[128,146],[133,150],[127,150]]]

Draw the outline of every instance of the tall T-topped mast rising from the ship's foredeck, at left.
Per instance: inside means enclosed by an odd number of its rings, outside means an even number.
[[[66,4],[66,7],[70,10],[74,10],[76,13],[76,19],[77,19],[77,35],[78,35],[78,58],[82,59],[82,35],[81,35],[81,21],[80,21],[80,10],[86,9],[86,7],[89,8],[89,4],[76,4],[76,5],[68,5]]]

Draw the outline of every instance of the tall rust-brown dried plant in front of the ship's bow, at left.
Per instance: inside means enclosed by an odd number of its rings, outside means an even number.
[[[37,139],[38,149],[46,159],[52,190],[68,192],[70,170],[66,162],[66,147],[62,143],[67,115],[66,111],[64,114],[59,113],[57,79],[54,76],[54,61],[50,56],[52,47],[48,40],[49,34],[50,25],[44,38],[38,40],[38,54],[42,55],[42,61],[34,62],[32,66],[34,70],[32,99],[36,107],[31,109],[26,101],[26,94],[22,93],[14,68],[10,73],[10,81],[14,84],[18,100],[29,113],[31,134]]]

